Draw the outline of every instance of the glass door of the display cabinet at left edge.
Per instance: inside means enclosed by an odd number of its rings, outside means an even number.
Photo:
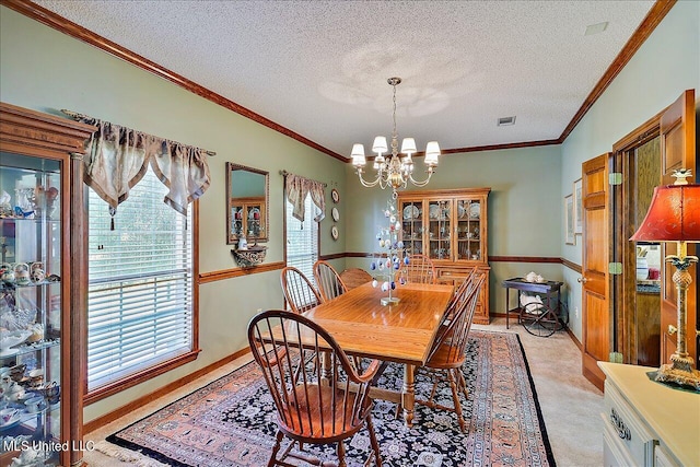
[[[37,465],[60,463],[60,171],[0,153],[0,439],[37,446]]]

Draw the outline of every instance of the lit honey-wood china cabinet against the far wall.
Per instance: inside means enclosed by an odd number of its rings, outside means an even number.
[[[435,265],[441,282],[459,282],[477,267],[487,275],[474,322],[489,324],[488,209],[491,188],[401,191],[401,235],[408,254]]]

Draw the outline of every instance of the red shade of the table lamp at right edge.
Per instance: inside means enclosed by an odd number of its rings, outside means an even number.
[[[630,240],[700,242],[700,185],[654,188],[646,217]]]

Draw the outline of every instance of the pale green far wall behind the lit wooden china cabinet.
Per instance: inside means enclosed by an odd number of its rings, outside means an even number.
[[[418,157],[416,178],[422,179],[422,159]],[[390,190],[360,185],[352,167],[348,167],[349,198],[347,230],[348,252],[377,252],[374,235],[385,222],[382,214]],[[370,173],[373,171],[370,170]],[[558,145],[501,151],[448,154],[441,159],[438,172],[425,189],[490,187],[489,255],[491,256],[561,256],[562,200],[561,150]],[[408,187],[407,189],[410,189]],[[348,267],[368,269],[369,260],[348,258]],[[525,276],[535,270],[551,280],[561,280],[560,265],[528,262],[491,262],[490,307],[505,310],[504,279]]]

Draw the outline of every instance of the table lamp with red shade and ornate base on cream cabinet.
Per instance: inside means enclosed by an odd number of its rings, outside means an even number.
[[[666,256],[666,261],[676,267],[673,281],[678,291],[678,342],[670,364],[661,365],[654,378],[700,392],[700,372],[693,370],[693,357],[686,351],[686,296],[692,281],[688,268],[698,262],[697,256],[688,256],[687,243],[700,242],[700,185],[688,184],[689,170],[676,171],[674,177],[674,185],[654,188],[646,217],[630,241],[677,244],[677,255]]]

